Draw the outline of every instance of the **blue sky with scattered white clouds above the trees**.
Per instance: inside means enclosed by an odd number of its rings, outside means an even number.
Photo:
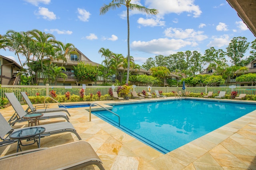
[[[100,63],[101,47],[127,55],[126,7],[100,16],[112,0],[5,0],[1,2],[0,34],[12,29],[39,29],[58,41],[72,43],[91,61]],[[130,55],[142,65],[149,57],[210,47],[226,50],[233,37],[255,37],[226,0],[132,0],[159,10],[156,16],[130,12]],[[250,51],[250,50],[249,50]],[[249,51],[246,55],[249,55]],[[18,61],[14,53],[0,55]]]

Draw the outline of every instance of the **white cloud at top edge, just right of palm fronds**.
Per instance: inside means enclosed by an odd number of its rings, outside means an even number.
[[[148,8],[158,9],[160,16],[188,12],[193,14],[193,17],[199,17],[202,13],[199,6],[194,4],[194,0],[145,0],[145,4]]]

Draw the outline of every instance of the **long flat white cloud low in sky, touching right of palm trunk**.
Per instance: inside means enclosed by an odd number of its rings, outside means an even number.
[[[151,41],[133,41],[131,48],[133,51],[142,51],[145,53],[153,53],[155,55],[170,55],[187,45],[194,45],[190,41],[184,41],[182,39],[152,39]]]

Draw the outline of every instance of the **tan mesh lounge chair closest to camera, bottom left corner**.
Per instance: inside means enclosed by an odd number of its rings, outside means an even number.
[[[26,151],[24,151],[25,154],[18,156],[16,155],[19,153],[15,153],[1,157],[1,169],[74,170],[96,165],[100,170],[104,170],[99,156],[86,141],[76,141],[51,148],[40,148],[38,151],[36,149]]]

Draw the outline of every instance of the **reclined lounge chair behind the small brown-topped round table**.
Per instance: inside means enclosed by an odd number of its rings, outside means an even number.
[[[23,109],[23,107],[21,106],[21,104],[18,101],[18,99],[16,98],[15,94],[14,93],[4,93],[4,94],[5,94],[5,96],[7,97],[7,99],[10,102],[10,104],[12,105],[12,107],[15,110],[15,113],[12,115],[12,117],[8,121],[9,124],[10,125],[14,125],[17,122],[27,121],[26,119],[22,118],[27,113]],[[50,118],[58,118],[58,117],[62,117],[62,118],[66,119],[69,122],[66,113],[63,112],[63,111],[62,112],[44,113],[44,115],[42,117],[40,117],[40,119],[50,119]]]

